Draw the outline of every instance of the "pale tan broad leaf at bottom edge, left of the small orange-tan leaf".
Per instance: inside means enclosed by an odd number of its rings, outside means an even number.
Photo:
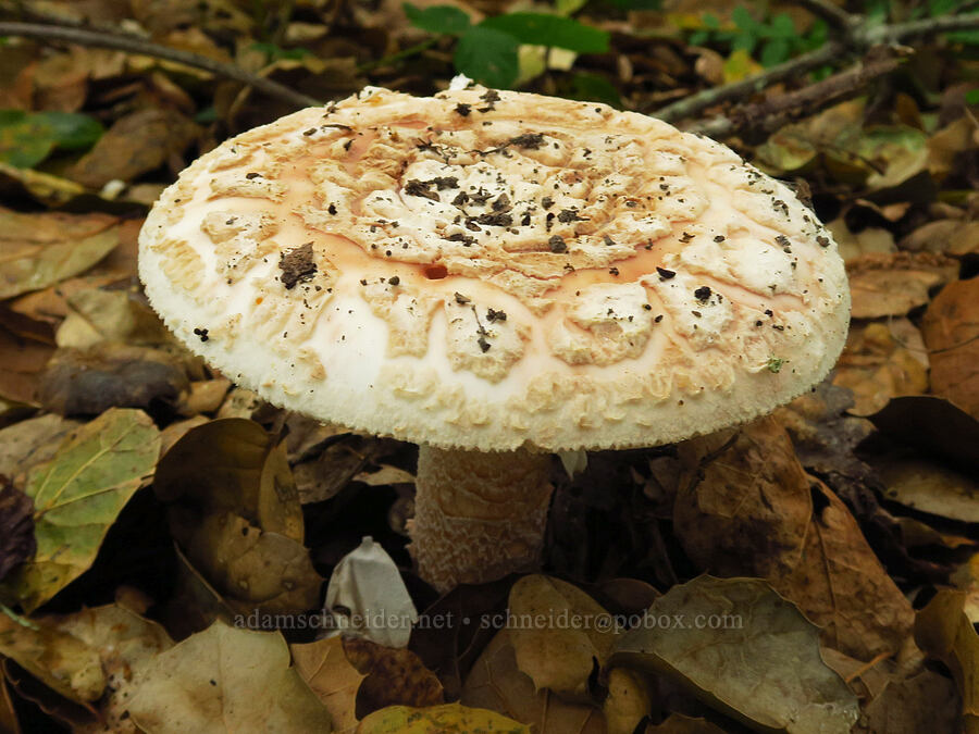
[[[148,734],[332,731],[277,632],[215,622],[158,655],[129,700]]]

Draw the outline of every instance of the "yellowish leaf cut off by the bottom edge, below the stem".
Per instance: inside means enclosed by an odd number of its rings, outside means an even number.
[[[523,724],[495,711],[444,704],[425,709],[392,706],[364,718],[357,734],[530,734]]]

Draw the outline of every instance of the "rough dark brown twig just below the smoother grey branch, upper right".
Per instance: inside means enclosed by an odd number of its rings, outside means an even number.
[[[837,102],[859,94],[871,80],[890,74],[901,64],[895,55],[860,62],[853,69],[755,104],[735,107],[723,117],[687,128],[721,138],[745,132],[770,134],[782,126],[808,117]]]

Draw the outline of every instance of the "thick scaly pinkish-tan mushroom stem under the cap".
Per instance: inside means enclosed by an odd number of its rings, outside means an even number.
[[[420,446],[410,550],[439,592],[541,563],[554,487],[550,457]]]

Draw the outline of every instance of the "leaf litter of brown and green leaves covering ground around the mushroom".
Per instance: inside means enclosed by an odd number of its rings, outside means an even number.
[[[397,2],[22,4],[324,102],[432,94],[461,63],[640,112],[784,61],[819,23],[784,3],[425,3],[427,29]],[[555,48],[520,46],[528,28]],[[804,179],[840,241],[854,308],[831,378],[722,435],[577,457],[571,475],[556,461],[548,575],[443,598],[405,550],[416,449],[263,403],[176,345],[138,287],[159,191],[293,108],[151,55],[0,46],[0,729],[975,726],[979,91],[966,41],[919,46],[888,87],[726,140]],[[391,564],[356,573],[351,598],[397,586],[421,612],[380,642],[407,648],[312,629],[364,536]],[[138,609],[106,606],[116,567]],[[739,630],[643,623],[732,609]],[[520,629],[508,611],[614,624]]]

